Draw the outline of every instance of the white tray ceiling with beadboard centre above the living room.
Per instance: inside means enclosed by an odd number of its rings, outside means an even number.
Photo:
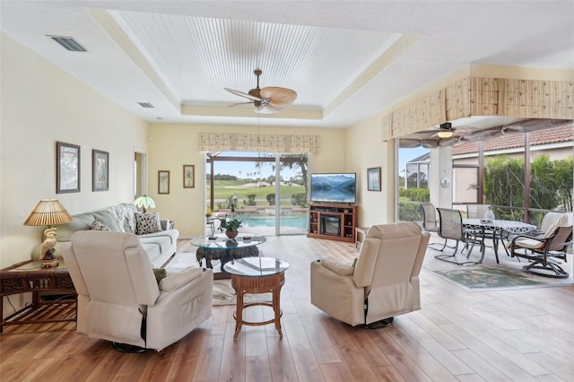
[[[257,124],[224,87],[298,92],[267,126],[352,126],[475,64],[574,69],[572,2],[10,1],[2,31],[148,121]],[[544,22],[541,22],[544,20]],[[47,35],[73,37],[68,52]],[[148,102],[153,108],[142,108]],[[492,120],[494,123],[494,120]]]

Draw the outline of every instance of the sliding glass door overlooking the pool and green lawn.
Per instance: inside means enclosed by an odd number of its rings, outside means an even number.
[[[242,221],[242,232],[307,233],[307,154],[208,152],[205,204]]]

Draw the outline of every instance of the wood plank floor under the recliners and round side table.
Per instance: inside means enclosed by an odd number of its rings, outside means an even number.
[[[274,326],[244,326],[233,306],[162,352],[121,353],[74,324],[5,326],[2,381],[572,381],[574,286],[465,291],[425,269],[422,310],[368,330],[344,325],[309,302],[309,262],[352,258],[353,244],[269,237],[265,256],[291,264],[282,290],[283,339]],[[187,239],[178,251],[193,251]],[[436,262],[429,251],[425,262]],[[568,265],[571,272],[571,263]],[[248,318],[268,318],[249,308]]]

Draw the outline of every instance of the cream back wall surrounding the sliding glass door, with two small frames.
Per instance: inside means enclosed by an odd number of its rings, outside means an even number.
[[[162,218],[176,221],[182,238],[204,234],[204,152],[199,151],[200,132],[319,135],[320,149],[311,155],[309,172],[346,169],[344,129],[282,128],[261,126],[213,126],[152,124],[149,135],[149,193]],[[196,166],[196,187],[183,188],[183,165]],[[170,195],[158,195],[158,170],[170,171]]]

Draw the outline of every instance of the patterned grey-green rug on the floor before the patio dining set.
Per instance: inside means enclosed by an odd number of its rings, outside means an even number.
[[[515,273],[505,269],[493,269],[484,266],[432,272],[468,291],[532,288],[546,285],[545,282],[539,282],[528,277],[526,273]]]

